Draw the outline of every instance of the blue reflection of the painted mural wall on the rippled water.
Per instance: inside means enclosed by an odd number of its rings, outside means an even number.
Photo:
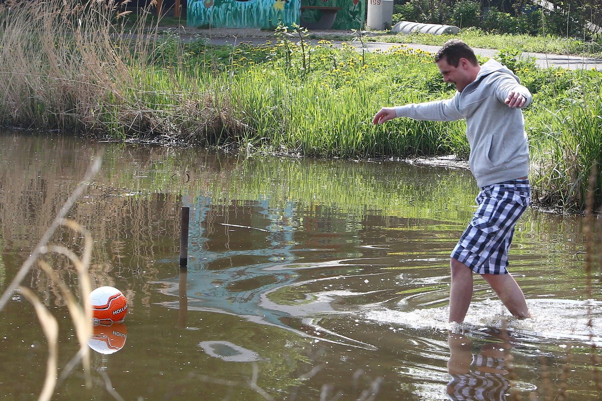
[[[204,197],[197,198],[195,204],[184,204],[184,206],[190,206],[191,210],[189,234],[189,244],[191,245],[188,246],[190,260],[188,262],[187,282],[187,293],[190,299],[189,307],[215,309],[238,316],[259,316],[265,319],[266,322],[280,325],[279,319],[285,316],[285,313],[261,308],[259,305],[261,294],[269,289],[293,283],[297,277],[294,272],[285,270],[265,271],[266,268],[270,268],[276,263],[258,263],[220,269],[208,269],[208,266],[217,260],[236,256],[256,256],[267,260],[276,259],[278,265],[282,265],[283,260],[292,260],[294,258],[291,251],[294,243],[293,229],[286,225],[286,218],[293,217],[293,204],[291,202],[287,203],[287,207],[282,210],[282,216],[280,216],[270,211],[267,200],[258,201],[255,207],[261,209],[259,213],[265,216],[263,222],[267,224],[263,227],[252,228],[240,227],[239,224],[236,230],[239,232],[244,232],[245,229],[253,230],[254,228],[265,230],[258,231],[261,235],[265,235],[265,247],[244,250],[225,249],[219,252],[208,251],[203,246],[209,240],[205,233],[205,222],[211,204],[211,199]],[[257,219],[257,221],[261,220]],[[231,228],[234,228],[234,226],[231,226]],[[241,283],[243,286],[240,287],[241,290],[238,290],[237,281],[243,279],[246,283]],[[257,280],[253,282],[252,279]]]

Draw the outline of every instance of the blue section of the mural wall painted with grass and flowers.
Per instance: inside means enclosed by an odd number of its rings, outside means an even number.
[[[264,28],[299,23],[300,0],[189,0],[188,26]]]

